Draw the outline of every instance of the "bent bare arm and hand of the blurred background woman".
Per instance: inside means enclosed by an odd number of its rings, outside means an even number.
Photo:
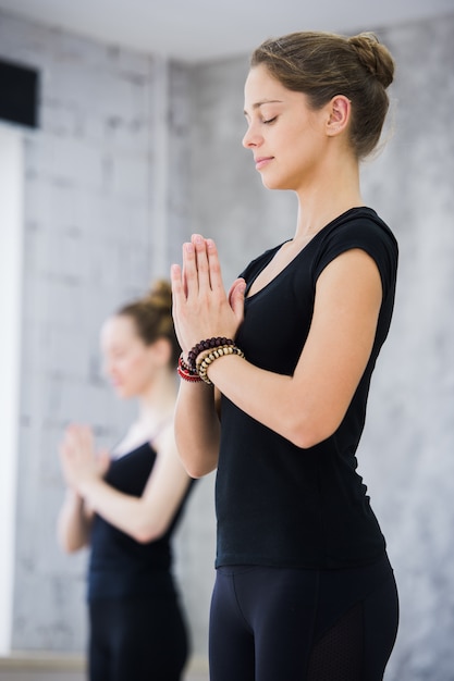
[[[165,532],[191,480],[177,456],[173,426],[157,442],[157,459],[142,497],[114,490],[98,474],[88,429],[72,426],[62,448],[68,474],[94,511],[137,542],[150,542]]]

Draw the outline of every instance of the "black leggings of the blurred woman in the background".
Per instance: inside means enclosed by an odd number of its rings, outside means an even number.
[[[187,635],[177,603],[103,598],[89,605],[90,681],[180,681]]]

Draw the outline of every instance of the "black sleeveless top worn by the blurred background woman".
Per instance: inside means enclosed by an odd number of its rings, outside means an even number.
[[[142,496],[156,461],[156,451],[145,443],[113,459],[106,474],[112,487]],[[145,594],[162,594],[171,589],[171,537],[182,515],[194,481],[189,486],[165,534],[142,544],[118,530],[98,515],[91,528],[91,553],[88,569],[88,599]]]

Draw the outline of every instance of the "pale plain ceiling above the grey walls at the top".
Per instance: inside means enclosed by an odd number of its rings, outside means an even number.
[[[248,53],[293,30],[356,33],[440,16],[454,0],[0,0],[53,27],[147,53],[199,62]]]

